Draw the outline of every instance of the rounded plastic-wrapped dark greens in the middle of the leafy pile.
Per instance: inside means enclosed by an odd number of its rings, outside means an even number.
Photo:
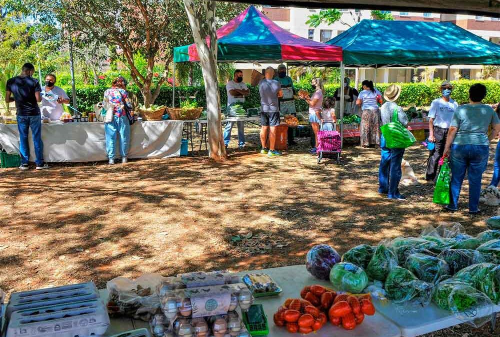
[[[409,255],[404,267],[428,283],[436,283],[449,273],[446,261],[421,253]]]

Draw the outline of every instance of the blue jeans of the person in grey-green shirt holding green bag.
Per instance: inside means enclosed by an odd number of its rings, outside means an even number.
[[[469,183],[469,212],[477,212],[481,194],[482,173],[488,164],[489,146],[452,145],[450,151],[450,203],[448,208],[458,209],[458,196],[462,188],[465,171]]]

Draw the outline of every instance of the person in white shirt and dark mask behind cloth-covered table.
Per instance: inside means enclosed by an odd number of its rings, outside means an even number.
[[[45,76],[45,86],[41,87],[41,115],[50,120],[59,120],[64,113],[62,104],[69,104],[69,97],[64,89],[55,85],[55,75]]]

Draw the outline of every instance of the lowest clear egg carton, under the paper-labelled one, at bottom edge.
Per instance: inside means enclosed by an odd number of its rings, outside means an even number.
[[[150,327],[153,337],[250,337],[236,312],[193,319],[176,317],[172,321],[156,314]]]

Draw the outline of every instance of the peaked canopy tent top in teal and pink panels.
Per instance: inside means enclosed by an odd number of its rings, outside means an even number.
[[[254,6],[217,30],[218,62],[287,62],[338,66],[342,48],[309,40],[279,27]],[[176,47],[174,62],[198,62],[194,44]]]

